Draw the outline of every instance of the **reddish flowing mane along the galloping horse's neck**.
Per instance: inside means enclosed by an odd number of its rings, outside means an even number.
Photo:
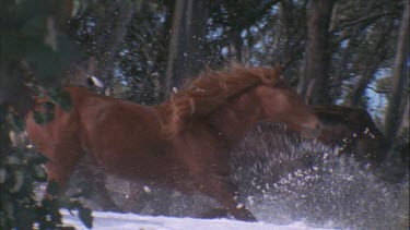
[[[276,85],[280,78],[280,68],[245,68],[232,64],[222,71],[208,70],[191,85],[174,92],[163,107],[171,116],[163,124],[163,131],[172,137],[194,118],[203,118],[220,106],[254,86]]]

